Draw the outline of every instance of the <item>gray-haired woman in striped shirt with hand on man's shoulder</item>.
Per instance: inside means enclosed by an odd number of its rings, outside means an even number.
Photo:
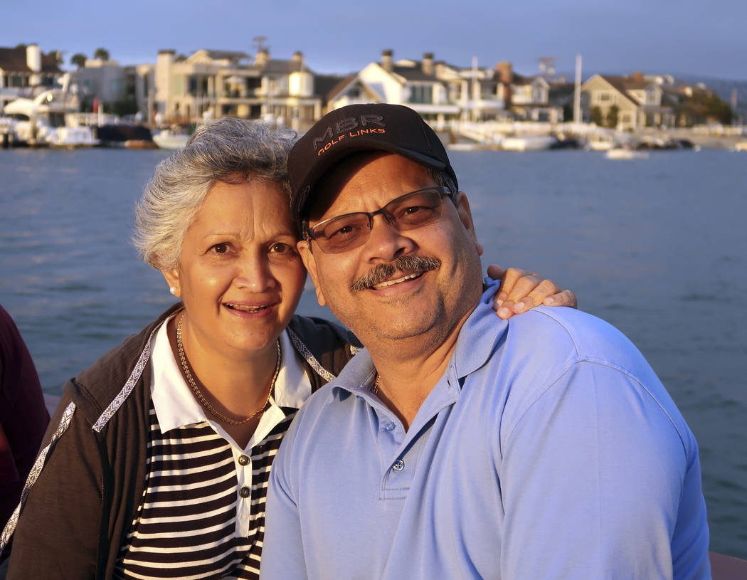
[[[136,244],[182,302],[66,383],[9,578],[258,576],[280,439],[357,348],[294,316],[306,272],[288,206],[293,140],[223,119],[158,166]]]

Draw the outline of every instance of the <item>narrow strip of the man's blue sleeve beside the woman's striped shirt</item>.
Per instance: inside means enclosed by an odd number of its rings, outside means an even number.
[[[299,419],[297,416],[291,424],[270,472],[260,580],[309,577],[303,552],[294,470],[291,467]]]

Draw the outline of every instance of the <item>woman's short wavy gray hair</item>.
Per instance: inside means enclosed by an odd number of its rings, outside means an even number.
[[[158,164],[135,206],[132,239],[143,260],[158,270],[179,265],[187,228],[216,182],[274,182],[290,200],[288,152],[296,139],[235,117],[199,127]]]

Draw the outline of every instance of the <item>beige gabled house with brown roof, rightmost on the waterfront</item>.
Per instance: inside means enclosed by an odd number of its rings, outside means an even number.
[[[672,126],[675,122],[672,107],[662,104],[662,88],[640,73],[630,77],[593,75],[581,85],[581,92],[586,94],[584,102],[589,108],[585,115],[616,129]]]

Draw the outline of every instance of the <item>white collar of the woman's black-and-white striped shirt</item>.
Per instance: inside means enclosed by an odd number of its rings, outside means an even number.
[[[179,363],[176,362],[169,344],[166,327],[166,322],[161,324],[158,332],[153,335],[150,345],[153,369],[150,389],[161,433],[208,420],[205,410],[195,400],[187,382],[182,377]],[[285,330],[280,335],[280,342],[282,365],[275,383],[273,408],[264,413],[257,431],[269,432],[285,418],[285,414],[277,407],[299,409],[311,396],[311,382]],[[273,422],[274,425],[262,425],[264,422]]]

